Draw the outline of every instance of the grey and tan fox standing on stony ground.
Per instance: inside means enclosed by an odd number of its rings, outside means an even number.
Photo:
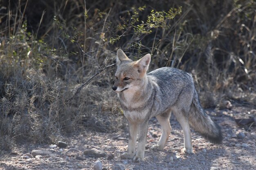
[[[120,155],[121,159],[144,161],[148,122],[153,117],[161,125],[162,134],[151,149],[163,150],[171,133],[171,113],[182,127],[185,153],[193,153],[190,126],[209,142],[220,144],[220,126],[202,108],[192,75],[171,67],[147,74],[150,60],[150,54],[146,54],[132,61],[123,50],[117,50],[116,80],[112,89],[117,93],[129,126],[128,149]]]

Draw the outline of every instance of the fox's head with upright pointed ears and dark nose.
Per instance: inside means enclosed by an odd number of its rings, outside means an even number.
[[[112,89],[117,93],[141,89],[146,81],[145,75],[149,63],[150,54],[146,54],[138,61],[132,61],[121,49],[118,49],[116,80]]]

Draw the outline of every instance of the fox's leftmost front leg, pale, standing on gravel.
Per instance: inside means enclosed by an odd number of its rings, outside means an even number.
[[[135,155],[135,145],[138,135],[138,125],[129,122],[129,140],[127,152],[121,155],[121,159],[132,159]]]

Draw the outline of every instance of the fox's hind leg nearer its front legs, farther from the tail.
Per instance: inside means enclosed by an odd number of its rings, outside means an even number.
[[[162,135],[161,135],[158,143],[151,147],[153,150],[163,150],[164,149],[164,146],[166,145],[168,137],[171,133],[170,116],[171,116],[171,111],[166,111],[166,112],[156,116],[158,122],[162,126]]]

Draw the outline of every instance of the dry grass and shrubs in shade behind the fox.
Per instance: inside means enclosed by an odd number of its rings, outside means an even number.
[[[254,0],[0,0],[0,150],[125,126],[111,89],[118,48],[150,53],[150,70],[193,74],[205,108],[255,108],[255,9]]]

